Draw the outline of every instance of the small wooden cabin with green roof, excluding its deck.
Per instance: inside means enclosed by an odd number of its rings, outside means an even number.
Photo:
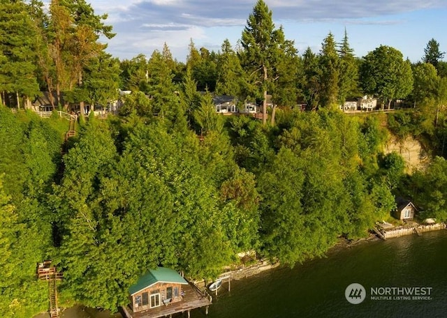
[[[133,312],[182,301],[182,287],[188,282],[170,268],[158,267],[140,277],[129,288]]]

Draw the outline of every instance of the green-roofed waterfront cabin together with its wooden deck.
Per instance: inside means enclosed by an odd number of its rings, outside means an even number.
[[[212,298],[200,291],[182,275],[170,268],[149,270],[129,288],[130,304],[123,308],[128,318],[170,317],[177,312],[188,312],[206,307]]]

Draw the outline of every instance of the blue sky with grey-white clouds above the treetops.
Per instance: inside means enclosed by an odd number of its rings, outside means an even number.
[[[380,45],[420,61],[430,39],[447,51],[447,0],[264,0],[275,27],[294,40],[298,54],[318,52],[331,32],[344,37],[358,57]],[[87,0],[117,35],[107,51],[119,59],[149,58],[166,43],[177,61],[186,61],[191,40],[196,48],[219,51],[228,38],[235,47],[256,0]]]

